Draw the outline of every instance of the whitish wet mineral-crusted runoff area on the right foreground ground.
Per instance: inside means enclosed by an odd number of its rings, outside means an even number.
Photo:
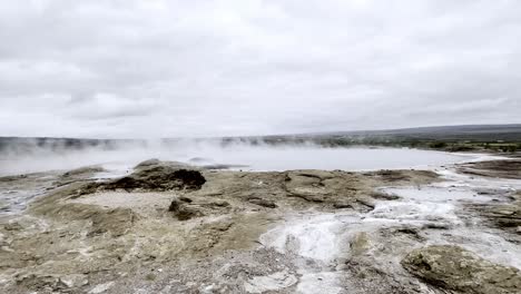
[[[306,212],[288,216],[260,241],[294,256],[301,265],[297,273],[304,278],[297,287],[301,293],[356,292],[345,277],[343,264],[361,251],[373,265],[380,264],[380,270],[391,273],[402,268],[396,255],[429,244],[458,244],[489,261],[521,268],[519,234],[488,227],[479,215],[466,209],[475,204],[509,203],[521,190],[521,180],[473,177],[453,168],[436,173],[442,182],[379,188],[400,199],[376,200],[367,213]]]

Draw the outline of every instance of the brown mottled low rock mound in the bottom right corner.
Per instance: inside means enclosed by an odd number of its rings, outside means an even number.
[[[489,262],[458,246],[415,249],[402,259],[402,266],[431,285],[461,293],[514,294],[521,290],[518,268]]]

